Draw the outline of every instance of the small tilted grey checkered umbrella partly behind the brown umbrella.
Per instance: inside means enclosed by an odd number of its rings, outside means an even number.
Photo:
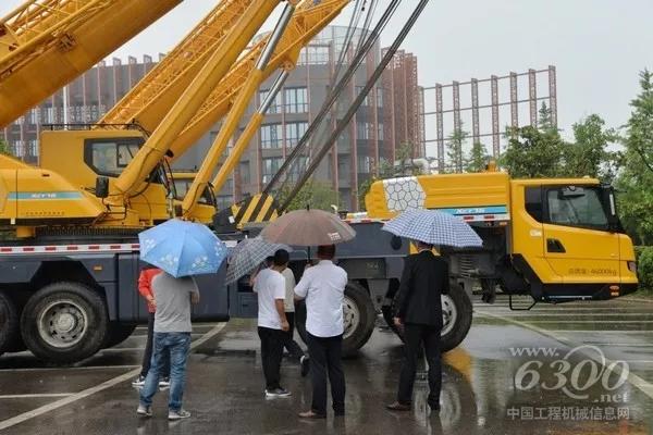
[[[227,259],[229,268],[226,269],[226,284],[237,281],[239,277],[247,275],[268,257],[274,256],[279,249],[292,251],[292,249],[282,244],[272,244],[264,240],[261,236],[246,238],[238,243],[231,251]]]

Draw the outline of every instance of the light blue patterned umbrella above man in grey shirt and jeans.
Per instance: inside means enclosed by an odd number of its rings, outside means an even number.
[[[138,234],[140,259],[174,277],[215,273],[224,244],[205,225],[170,220]]]

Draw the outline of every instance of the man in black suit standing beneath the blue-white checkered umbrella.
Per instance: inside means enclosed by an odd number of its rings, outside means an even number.
[[[429,363],[429,406],[433,411],[440,409],[442,385],[440,296],[448,294],[448,265],[442,257],[433,254],[432,245],[418,241],[417,248],[419,252],[408,256],[404,262],[395,308],[395,325],[404,331],[405,356],[397,400],[387,406],[387,409],[393,411],[410,410],[412,384],[422,344]]]

